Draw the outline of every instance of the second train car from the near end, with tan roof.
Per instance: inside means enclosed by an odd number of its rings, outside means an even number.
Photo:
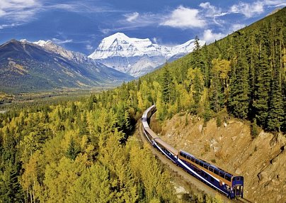
[[[176,150],[176,148],[173,148],[172,146],[168,145],[160,138],[154,139],[154,146],[158,150],[160,150],[161,153],[164,153],[164,155],[166,155],[167,158],[171,159],[173,163],[177,163],[178,150]]]

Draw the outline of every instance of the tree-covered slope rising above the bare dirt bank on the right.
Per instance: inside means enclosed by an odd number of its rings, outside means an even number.
[[[179,111],[227,110],[268,131],[285,131],[286,8],[144,77],[140,96],[159,119]],[[146,89],[152,89],[147,91]],[[152,91],[159,92],[150,97]],[[146,107],[146,104],[144,104]]]

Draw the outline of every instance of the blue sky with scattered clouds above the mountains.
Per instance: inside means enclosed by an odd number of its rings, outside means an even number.
[[[195,38],[207,43],[286,6],[286,0],[0,0],[0,43],[52,40],[90,54],[122,32],[161,45]]]

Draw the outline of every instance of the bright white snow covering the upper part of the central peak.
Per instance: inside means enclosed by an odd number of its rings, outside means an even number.
[[[203,45],[205,42],[200,41]],[[168,47],[153,44],[149,38],[130,38],[124,33],[115,33],[101,40],[98,48],[89,55],[94,60],[106,59],[108,57],[135,57],[148,55],[164,56],[167,59],[178,53],[190,53],[193,51],[194,40],[189,40],[182,45]]]

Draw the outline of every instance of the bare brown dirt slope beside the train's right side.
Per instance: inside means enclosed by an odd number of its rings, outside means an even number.
[[[186,122],[186,120],[188,122]],[[223,168],[244,176],[244,197],[252,202],[286,202],[286,138],[263,131],[251,138],[248,124],[229,119],[217,128],[212,119],[174,116],[163,124],[161,138]]]

